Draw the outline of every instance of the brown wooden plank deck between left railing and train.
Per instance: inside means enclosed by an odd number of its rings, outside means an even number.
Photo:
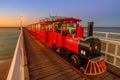
[[[24,31],[30,80],[87,80],[27,31]]]

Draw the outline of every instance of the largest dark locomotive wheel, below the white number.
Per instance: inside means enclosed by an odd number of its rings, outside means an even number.
[[[79,57],[78,55],[75,55],[75,54],[72,55],[72,56],[70,57],[70,63],[71,63],[74,67],[79,68],[80,65],[81,65],[80,57]]]

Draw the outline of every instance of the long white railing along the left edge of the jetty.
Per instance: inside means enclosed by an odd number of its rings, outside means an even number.
[[[21,29],[7,80],[24,80],[23,32]]]

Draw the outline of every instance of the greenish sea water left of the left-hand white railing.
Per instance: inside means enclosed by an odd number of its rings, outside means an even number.
[[[19,28],[0,28],[0,60],[13,56],[19,34]]]

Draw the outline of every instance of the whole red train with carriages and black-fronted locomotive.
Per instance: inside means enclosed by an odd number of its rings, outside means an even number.
[[[68,61],[85,75],[98,75],[106,71],[104,58],[100,53],[101,42],[92,37],[93,23],[88,23],[88,36],[79,26],[77,18],[57,18],[27,26],[34,36],[47,43],[58,53],[64,52]]]

